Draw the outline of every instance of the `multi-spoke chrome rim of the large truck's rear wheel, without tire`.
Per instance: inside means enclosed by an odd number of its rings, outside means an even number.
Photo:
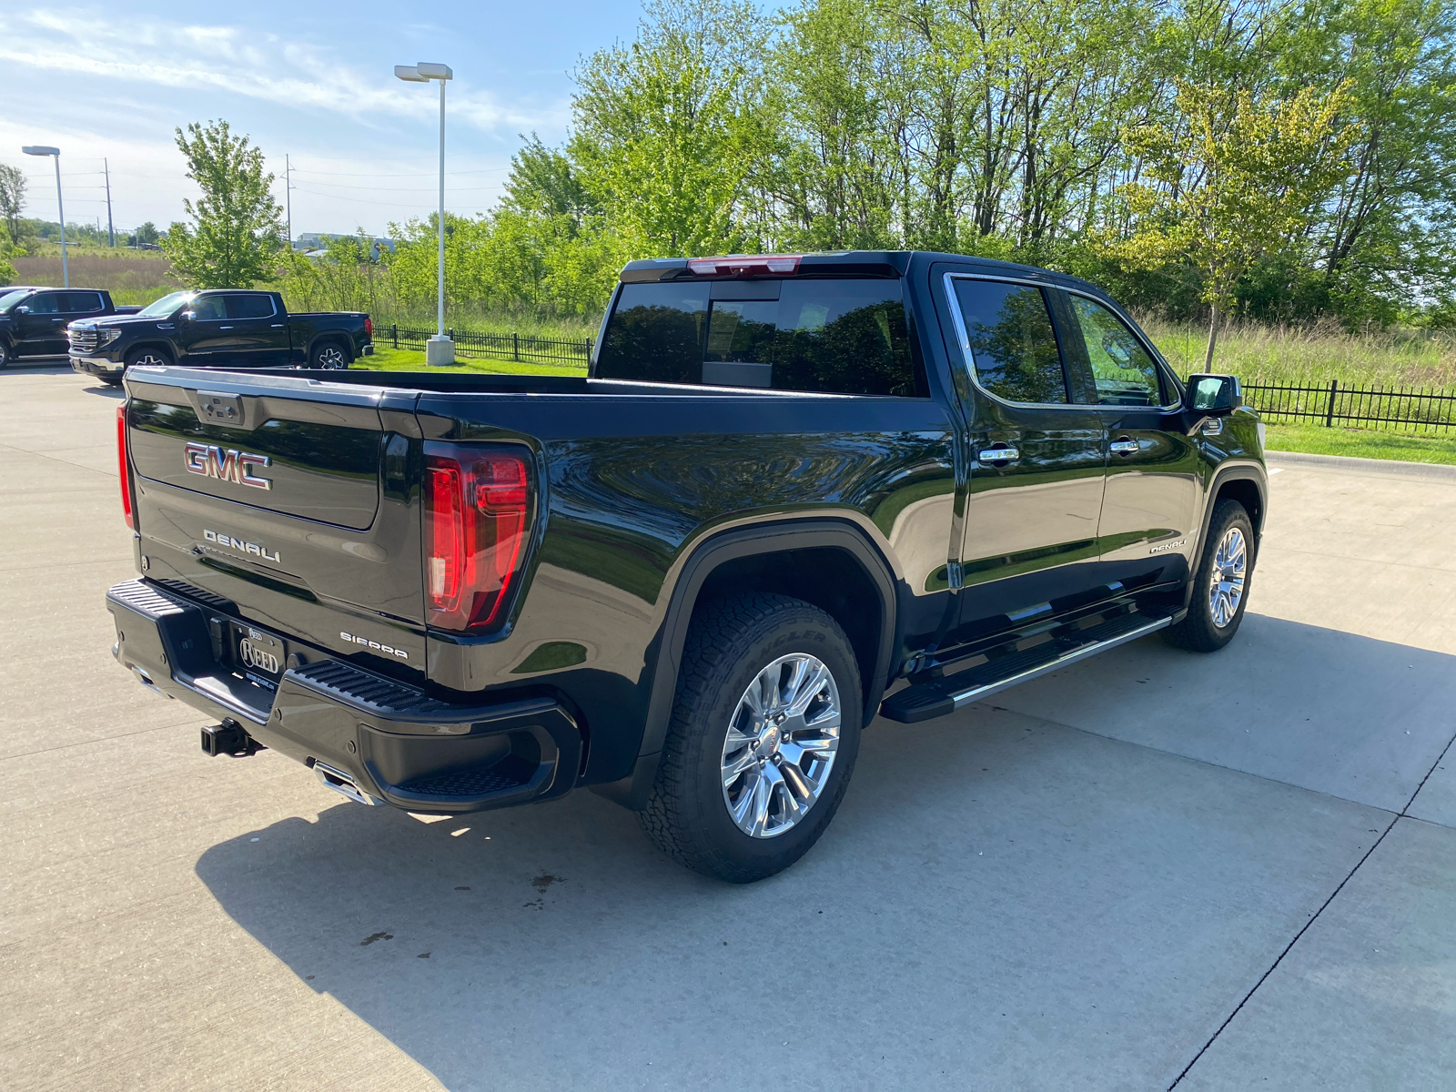
[[[772,839],[802,820],[839,751],[839,687],[807,652],[779,657],[738,699],[724,740],[728,814],[748,837]]]

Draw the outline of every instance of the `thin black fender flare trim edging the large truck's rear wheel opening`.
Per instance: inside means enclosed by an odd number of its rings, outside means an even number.
[[[890,662],[895,648],[897,598],[894,571],[869,536],[850,520],[799,518],[756,524],[719,531],[693,547],[678,571],[668,598],[667,614],[658,630],[657,655],[652,661],[652,683],[642,725],[642,743],[632,773],[606,785],[593,785],[593,792],[616,801],[633,811],[646,807],[648,794],[657,779],[657,767],[667,738],[667,727],[677,695],[677,671],[683,661],[683,645],[692,623],[693,607],[703,584],[713,569],[729,561],[759,553],[783,550],[839,549],[863,569],[879,598],[879,648],[875,654],[874,676],[865,683],[865,712],[860,724],[869,724],[879,709]]]

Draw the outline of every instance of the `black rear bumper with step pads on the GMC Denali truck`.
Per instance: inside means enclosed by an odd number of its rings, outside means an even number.
[[[565,795],[581,769],[581,732],[549,697],[453,705],[293,642],[290,662],[304,662],[274,690],[230,664],[220,610],[141,579],[108,591],[106,609],[116,622],[114,654],[144,686],[233,721],[309,767],[344,770],[397,808],[529,804]]]

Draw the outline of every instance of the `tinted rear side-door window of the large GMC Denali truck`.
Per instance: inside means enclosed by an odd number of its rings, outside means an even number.
[[[1067,400],[1061,352],[1041,288],[957,280],[955,296],[981,387],[1008,402]]]

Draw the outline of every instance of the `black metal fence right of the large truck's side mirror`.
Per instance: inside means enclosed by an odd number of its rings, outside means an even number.
[[[1456,392],[1430,387],[1246,383],[1243,400],[1268,421],[1411,432],[1456,428]]]

